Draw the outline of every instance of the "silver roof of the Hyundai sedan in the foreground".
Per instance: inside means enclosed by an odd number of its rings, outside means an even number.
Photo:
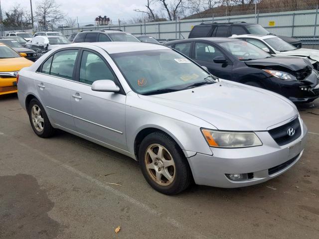
[[[168,50],[167,46],[145,43],[145,42],[127,42],[127,41],[109,41],[109,42],[83,42],[83,43],[73,43],[68,45],[68,47],[87,47],[87,46],[97,46],[104,49],[109,54],[122,53],[122,52],[133,52],[133,51],[147,51],[147,50]]]

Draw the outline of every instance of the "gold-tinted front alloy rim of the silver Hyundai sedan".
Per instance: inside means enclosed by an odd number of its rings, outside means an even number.
[[[175,179],[175,163],[168,150],[160,144],[151,144],[144,158],[151,178],[161,186],[170,185]]]

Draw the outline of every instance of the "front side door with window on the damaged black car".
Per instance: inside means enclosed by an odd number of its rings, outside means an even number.
[[[221,56],[227,63],[215,63],[215,57]],[[230,80],[232,75],[232,62],[213,44],[206,42],[195,42],[193,60],[201,66],[206,66],[208,71],[222,79]]]

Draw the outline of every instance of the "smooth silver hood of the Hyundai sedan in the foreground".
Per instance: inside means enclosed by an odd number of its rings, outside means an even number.
[[[293,103],[275,93],[229,81],[139,97],[188,113],[220,130],[267,130],[298,114]]]

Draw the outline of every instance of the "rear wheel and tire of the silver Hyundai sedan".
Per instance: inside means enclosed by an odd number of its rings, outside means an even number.
[[[43,106],[37,99],[32,99],[28,106],[29,120],[33,131],[42,138],[51,137],[55,129],[52,127]]]

